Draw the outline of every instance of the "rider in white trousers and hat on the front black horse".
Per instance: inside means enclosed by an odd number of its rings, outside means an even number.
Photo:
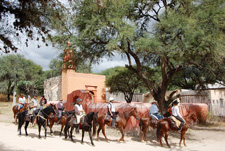
[[[82,106],[82,99],[77,98],[76,104],[74,105],[74,110],[77,117],[77,123],[81,123],[80,119],[85,116],[85,111]]]

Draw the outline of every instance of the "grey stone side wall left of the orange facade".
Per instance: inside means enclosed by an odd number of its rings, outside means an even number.
[[[47,101],[58,101],[62,96],[62,77],[53,77],[44,81],[44,95]]]

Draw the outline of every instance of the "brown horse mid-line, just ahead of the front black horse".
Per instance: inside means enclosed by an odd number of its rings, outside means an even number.
[[[119,121],[117,123],[117,128],[120,130],[122,137],[119,139],[119,141],[124,142],[124,129],[127,125],[128,120],[130,119],[131,116],[134,116],[137,118],[137,109],[136,108],[131,108],[126,112],[119,113]],[[105,136],[105,140],[108,142],[108,138],[105,135],[105,124],[108,126],[112,125],[111,121],[105,120],[105,114],[101,115],[98,117],[98,131],[97,131],[97,140],[99,141],[99,132],[102,130],[102,134]]]

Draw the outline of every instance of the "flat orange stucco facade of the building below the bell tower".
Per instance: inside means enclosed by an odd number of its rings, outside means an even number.
[[[77,73],[74,69],[62,70],[62,98],[75,90],[86,90],[93,95],[93,103],[106,101],[105,76]]]

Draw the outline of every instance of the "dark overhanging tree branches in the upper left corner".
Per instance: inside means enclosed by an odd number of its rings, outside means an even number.
[[[46,38],[51,39],[50,21],[52,18],[61,20],[59,8],[64,9],[58,0],[1,1],[0,41],[3,44],[0,45],[0,52],[16,52],[17,45],[24,38],[26,45],[29,40],[41,40],[48,45]]]

